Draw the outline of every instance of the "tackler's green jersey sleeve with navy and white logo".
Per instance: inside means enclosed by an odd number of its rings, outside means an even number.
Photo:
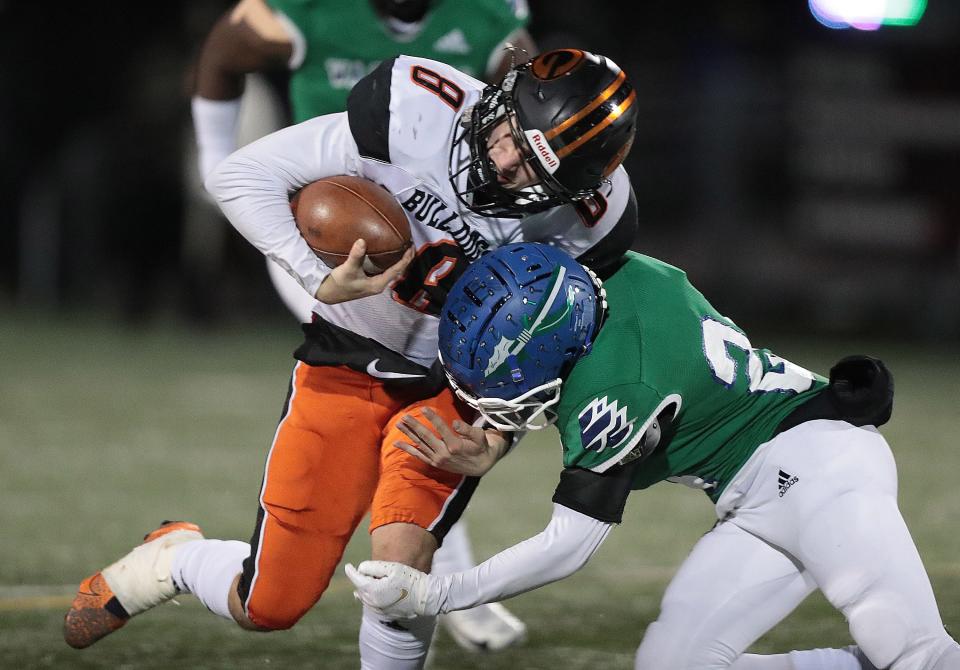
[[[667,407],[679,411],[678,395],[662,396],[634,383],[606,389],[574,406],[560,429],[563,465],[604,473],[642,455],[641,440]]]

